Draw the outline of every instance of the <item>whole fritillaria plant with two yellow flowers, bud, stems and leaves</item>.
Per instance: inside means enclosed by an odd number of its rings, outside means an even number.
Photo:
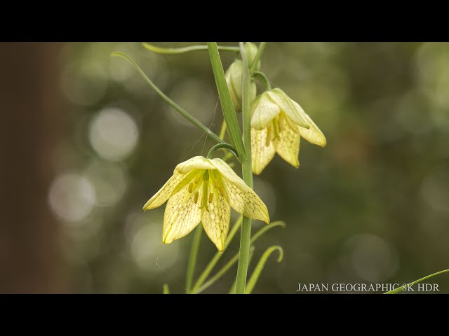
[[[208,50],[224,116],[220,136],[159,90],[128,55],[121,52],[112,54],[127,59],[170,106],[217,142],[217,145],[210,148],[207,158],[195,156],[177,165],[173,176],[143,207],[146,211],[167,202],[163,216],[164,244],[170,244],[195,230],[187,266],[186,293],[201,293],[228,272],[236,262],[238,262],[236,281],[229,293],[252,292],[269,255],[278,251],[279,262],[283,257],[281,246],[270,246],[262,254],[247,281],[248,265],[255,241],[271,228],[285,227],[282,221],[270,223],[267,207],[253,190],[253,174],[261,174],[275,153],[293,167],[299,167],[301,138],[312,144],[326,146],[323,133],[301,106],[290,99],[283,90],[272,89],[267,76],[260,71],[265,45],[266,43],[261,42],[257,47],[254,43],[241,42],[239,47],[225,47],[217,46],[215,42],[208,42],[207,45],[192,45],[186,48],[159,48],[142,43],[147,50],[165,55]],[[234,52],[236,55],[235,61],[226,73],[223,70],[219,50]],[[259,80],[266,89],[259,95],[255,80]],[[242,118],[242,129],[237,113]],[[224,140],[226,131],[230,143]],[[217,149],[224,150],[222,158],[213,158]],[[227,163],[232,155],[241,165],[242,178]],[[231,208],[241,214],[232,228],[230,228]],[[251,237],[253,219],[264,221],[267,225]],[[239,253],[210,276],[239,229],[241,229]],[[196,256],[203,230],[218,251],[194,282]],[[168,286],[164,285],[163,293],[168,292]]]

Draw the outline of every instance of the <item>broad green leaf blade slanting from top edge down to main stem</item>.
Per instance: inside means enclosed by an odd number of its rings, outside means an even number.
[[[231,140],[232,146],[236,148],[239,159],[245,160],[247,155],[241,139],[239,121],[237,120],[234,105],[232,104],[229,87],[227,87],[225,71],[223,70],[220,54],[218,53],[217,43],[208,42],[208,50],[213,75],[215,77],[215,83],[217,84],[218,96],[220,97],[223,116],[225,116],[229,139]]]

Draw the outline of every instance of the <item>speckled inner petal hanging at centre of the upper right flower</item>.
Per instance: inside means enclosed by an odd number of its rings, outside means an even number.
[[[276,141],[276,152],[295,168],[300,167],[298,160],[301,140],[299,128],[296,124],[289,123],[285,116],[279,118],[280,132],[279,139]]]

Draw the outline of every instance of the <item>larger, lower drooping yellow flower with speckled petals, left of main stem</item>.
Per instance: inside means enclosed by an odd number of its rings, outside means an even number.
[[[232,207],[243,216],[269,223],[267,206],[221,159],[196,156],[176,166],[144,210],[167,202],[162,241],[170,244],[189,234],[200,221],[219,251],[225,248]]]

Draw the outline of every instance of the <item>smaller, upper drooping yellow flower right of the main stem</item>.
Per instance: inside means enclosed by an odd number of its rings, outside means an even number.
[[[253,173],[259,175],[274,153],[293,167],[300,167],[300,139],[326,146],[326,137],[299,104],[281,89],[266,91],[251,106],[251,156]]]

